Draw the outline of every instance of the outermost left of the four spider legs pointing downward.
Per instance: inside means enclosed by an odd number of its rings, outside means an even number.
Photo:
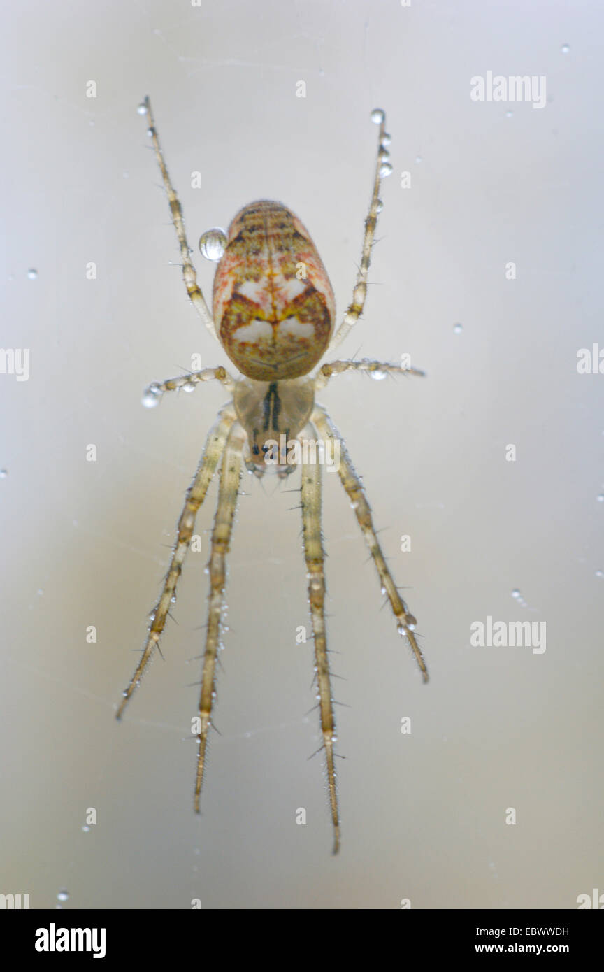
[[[201,461],[197,467],[193,481],[186,492],[185,507],[179,520],[178,533],[172,550],[170,567],[168,568],[168,573],[166,573],[159,600],[152,612],[151,625],[145,647],[143,648],[143,654],[141,655],[141,660],[136,667],[134,675],[130,679],[128,687],[123,692],[123,698],[117,710],[118,719],[121,718],[124,709],[138,688],[145,669],[151,661],[153,651],[157,647],[161,637],[170,604],[175,595],[176,585],[183,570],[185,553],[193,534],[193,527],[195,526],[195,515],[206,498],[208,486],[212,481],[212,477],[218,466],[218,460],[224,450],[224,443],[234,421],[235,413],[227,405],[218,413],[218,422],[210,430],[206,439],[206,447]]]

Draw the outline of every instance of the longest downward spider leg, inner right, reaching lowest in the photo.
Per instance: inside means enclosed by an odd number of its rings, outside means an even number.
[[[307,427],[312,438],[317,433],[312,426]],[[327,659],[327,638],[325,633],[325,553],[321,538],[321,467],[318,462],[302,463],[302,528],[304,555],[308,577],[308,596],[313,620],[315,639],[315,665],[319,686],[320,728],[327,760],[327,784],[329,787],[329,806],[333,824],[333,852],[340,848],[340,820],[338,816],[338,792],[334,768],[333,744],[335,723],[333,700]]]

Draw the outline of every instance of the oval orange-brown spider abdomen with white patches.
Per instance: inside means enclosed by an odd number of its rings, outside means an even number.
[[[307,374],[334,317],[329,277],[305,226],[279,202],[244,206],[214,279],[214,321],[231,361],[256,381]]]

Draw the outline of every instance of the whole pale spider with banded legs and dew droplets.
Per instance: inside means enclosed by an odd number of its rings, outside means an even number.
[[[382,209],[382,177],[391,172],[386,146],[386,116],[381,109],[372,112],[372,121],[380,126],[378,156],[369,213],[365,220],[360,266],[352,294],[352,303],[339,328],[335,327],[335,300],[329,278],[313,240],[294,214],[279,202],[261,199],[237,213],[225,236],[212,230],[207,248],[214,247],[218,262],[210,312],[197,284],[195,268],[185,234],[183,210],[172,186],[159,143],[148,97],[139,106],[139,114],[149,120],[154,155],[168,195],[172,221],[181,248],[183,277],[190,300],[212,335],[218,339],[241,375],[236,379],[224,367],[207,367],[147,389],[144,402],[156,404],[165,392],[184,388],[191,391],[197,384],[218,380],[232,398],[218,411],[216,424],[208,434],[204,452],[193,481],[186,493],[185,507],[178,524],[168,573],[159,600],[151,612],[147,640],[141,659],[128,687],[122,693],[117,710],[121,718],[126,705],[140,684],[166,623],[170,605],[176,600],[176,587],[183,569],[186,549],[193,535],[195,516],[204,502],[210,482],[218,469],[218,506],[211,540],[209,563],[210,595],[208,624],[201,677],[201,694],[196,731],[198,741],[194,809],[199,813],[200,794],[206,762],[208,733],[216,696],[216,663],[220,648],[222,611],[226,576],[226,554],[229,549],[233,518],[239,494],[242,468],[262,476],[273,470],[283,478],[301,467],[302,534],[308,578],[308,597],[315,644],[315,673],[319,699],[320,731],[325,750],[327,788],[333,826],[333,852],[340,846],[340,817],[334,769],[335,722],[331,694],[327,641],[325,633],[324,550],[321,535],[321,463],[320,451],[311,455],[307,442],[322,436],[323,447],[335,450],[337,471],[351,501],[358,526],[380,575],[382,593],[386,595],[398,632],[411,645],[424,681],[428,674],[415,635],[417,621],[399,596],[382,548],[376,536],[371,509],[359,477],[352,468],[345,443],[325,409],[315,401],[315,393],[334,376],[345,371],[367,371],[376,377],[405,373],[422,375],[417,368],[363,360],[332,361],[321,364],[327,349],[335,348],[347,336],[361,316],[367,291],[367,274],[371,258],[378,213]],[[203,252],[203,247],[202,247]],[[207,249],[206,249],[207,253]],[[292,450],[275,452],[276,443]],[[293,446],[301,446],[296,452]],[[293,461],[291,455],[293,453]]]

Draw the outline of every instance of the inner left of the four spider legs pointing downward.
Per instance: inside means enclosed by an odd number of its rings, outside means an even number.
[[[224,585],[226,581],[226,554],[231,540],[233,517],[239,496],[243,447],[247,436],[239,423],[236,423],[228,436],[218,486],[218,506],[212,531],[212,552],[210,554],[210,597],[208,600],[208,627],[201,677],[199,697],[200,730],[197,735],[199,752],[197,754],[197,775],[195,778],[195,813],[199,813],[199,797],[203,783],[206,760],[208,732],[212,724],[212,706],[215,698],[216,662],[220,643],[220,625],[224,607]]]

